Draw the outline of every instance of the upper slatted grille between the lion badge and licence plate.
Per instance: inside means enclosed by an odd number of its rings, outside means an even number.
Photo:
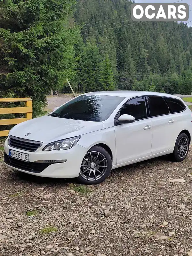
[[[9,146],[12,148],[19,148],[26,151],[34,152],[37,148],[41,147],[43,142],[22,139],[15,136],[9,137]]]

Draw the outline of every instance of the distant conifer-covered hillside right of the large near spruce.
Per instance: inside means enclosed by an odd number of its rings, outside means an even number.
[[[192,92],[192,27],[177,22],[134,22],[131,1],[80,0],[82,26],[76,92],[148,90]],[[82,25],[83,24],[83,25]]]

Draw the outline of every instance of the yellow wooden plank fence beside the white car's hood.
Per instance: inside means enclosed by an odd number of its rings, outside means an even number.
[[[26,113],[24,118],[12,118],[12,119],[0,119],[0,125],[19,124],[32,118],[32,100],[31,98],[10,98],[0,99],[1,102],[16,102],[24,101],[25,107],[19,108],[0,108],[0,114],[15,114],[15,113]],[[0,131],[0,137],[7,136],[9,130]]]

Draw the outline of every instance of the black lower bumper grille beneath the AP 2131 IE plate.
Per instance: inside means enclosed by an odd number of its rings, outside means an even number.
[[[4,153],[4,162],[12,167],[21,169],[28,172],[43,172],[45,168],[54,163],[33,163],[33,162],[24,162],[19,159],[12,158]]]

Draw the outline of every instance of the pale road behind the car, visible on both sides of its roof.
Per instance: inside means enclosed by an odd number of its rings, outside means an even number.
[[[47,98],[47,103],[48,103],[47,108],[49,109],[50,112],[53,110],[53,108],[60,107],[62,104],[64,104],[68,100],[73,99],[73,97],[64,97],[65,94],[63,94],[62,96],[63,97],[48,97]],[[192,95],[187,95],[187,94],[176,94],[176,96],[178,96],[180,98],[192,97]],[[192,103],[187,102],[187,105],[192,105]]]

